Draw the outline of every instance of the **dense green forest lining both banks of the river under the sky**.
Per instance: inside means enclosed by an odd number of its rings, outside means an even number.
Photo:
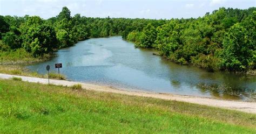
[[[189,19],[91,18],[64,7],[58,16],[0,16],[0,52],[26,51],[33,57],[89,38],[122,36],[136,47],[156,48],[183,65],[209,71],[256,68],[256,8],[220,8]],[[153,63],[152,63],[153,64]]]

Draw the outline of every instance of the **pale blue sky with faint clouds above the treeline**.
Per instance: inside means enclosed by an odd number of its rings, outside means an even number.
[[[67,6],[71,16],[111,18],[197,18],[220,7],[247,9],[256,0],[0,0],[0,15],[55,17]]]

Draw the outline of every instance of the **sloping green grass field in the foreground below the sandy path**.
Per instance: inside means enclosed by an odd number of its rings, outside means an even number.
[[[0,79],[0,133],[255,133],[256,115]]]

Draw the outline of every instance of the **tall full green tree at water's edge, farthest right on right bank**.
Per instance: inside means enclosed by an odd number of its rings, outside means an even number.
[[[241,24],[235,24],[226,33],[221,54],[221,67],[227,70],[245,70],[253,58],[253,40]]]

